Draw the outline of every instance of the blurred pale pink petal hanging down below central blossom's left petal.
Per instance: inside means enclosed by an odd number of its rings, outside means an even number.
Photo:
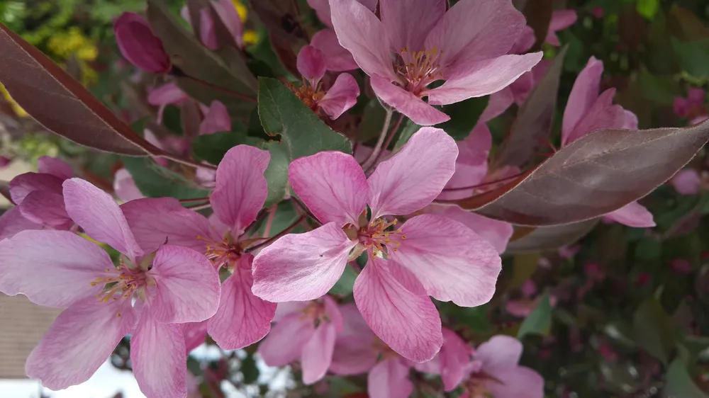
[[[323,322],[303,346],[301,365],[303,366],[304,384],[313,384],[325,377],[333,360],[335,334],[337,334],[335,325]]]

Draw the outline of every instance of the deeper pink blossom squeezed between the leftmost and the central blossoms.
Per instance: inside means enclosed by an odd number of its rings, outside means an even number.
[[[276,311],[275,304],[252,294],[253,255],[245,251],[253,242],[245,230],[268,194],[264,171],[269,159],[268,152],[255,147],[229,149],[216,172],[216,189],[209,197],[214,215],[209,219],[174,198],[132,200],[121,206],[143,250],[153,251],[167,241],[199,251],[215,269],[231,272],[222,285],[219,308],[207,322],[209,335],[224,349],[262,339]]]

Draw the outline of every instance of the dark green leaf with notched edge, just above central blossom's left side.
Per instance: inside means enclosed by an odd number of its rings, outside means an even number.
[[[288,165],[293,159],[322,151],[352,153],[350,140],[325,125],[280,81],[259,78],[259,118],[268,135],[281,136],[280,142],[262,145],[271,152],[265,173],[269,184],[267,207],[284,198]]]

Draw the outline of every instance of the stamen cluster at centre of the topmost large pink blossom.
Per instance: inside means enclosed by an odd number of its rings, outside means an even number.
[[[406,81],[406,89],[420,96],[420,93],[436,80],[443,79],[440,72],[440,56],[442,51],[436,47],[432,50],[409,51],[404,47],[399,51],[401,55],[400,64],[396,66],[396,72]]]

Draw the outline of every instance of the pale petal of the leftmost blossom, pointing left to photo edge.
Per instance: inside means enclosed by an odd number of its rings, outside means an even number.
[[[113,269],[104,249],[67,231],[23,231],[0,241],[0,291],[31,302],[68,307],[101,292],[91,285]]]

